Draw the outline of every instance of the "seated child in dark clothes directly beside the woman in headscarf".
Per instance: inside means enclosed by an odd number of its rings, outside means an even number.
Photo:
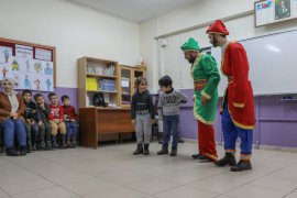
[[[32,101],[32,92],[29,89],[23,90],[22,92],[24,102],[25,102],[25,129],[26,129],[26,142],[28,148],[26,151],[30,153],[32,150],[36,151],[37,142],[38,142],[38,125],[40,123],[40,114],[37,112],[37,106]],[[38,147],[45,147],[44,141],[38,144]]]

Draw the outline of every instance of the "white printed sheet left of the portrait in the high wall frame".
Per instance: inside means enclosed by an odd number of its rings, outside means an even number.
[[[273,23],[273,0],[255,3],[256,26]]]

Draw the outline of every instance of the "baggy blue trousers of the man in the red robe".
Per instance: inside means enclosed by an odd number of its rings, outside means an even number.
[[[245,130],[237,127],[228,110],[228,101],[224,101],[221,124],[223,131],[224,150],[235,150],[238,138],[241,139],[241,153],[249,155],[252,153],[253,130]]]

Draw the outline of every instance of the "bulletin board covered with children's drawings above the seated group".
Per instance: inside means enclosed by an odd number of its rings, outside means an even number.
[[[0,37],[0,80],[12,78],[14,89],[53,91],[56,47]]]

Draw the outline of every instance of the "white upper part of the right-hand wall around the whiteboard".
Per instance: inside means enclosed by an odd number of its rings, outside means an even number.
[[[156,29],[156,33],[151,32],[151,34],[145,34],[147,37],[142,37],[142,41],[160,36],[165,37],[168,41],[168,45],[163,50],[165,73],[173,77],[175,87],[193,88],[189,67],[184,67],[187,63],[186,61],[183,61],[183,53],[180,52],[179,46],[190,36],[198,40],[201,47],[210,46],[206,34],[207,25],[199,26],[200,24],[208,24],[217,19],[233,16],[232,20],[226,22],[227,29],[230,32],[228,38],[231,41],[250,38],[257,35],[297,28],[297,20],[263,28],[254,28],[254,15],[243,14],[254,9],[254,1],[255,0],[198,1],[195,4],[174,10],[153,19],[156,21],[155,23],[142,23],[141,35],[143,35],[142,32],[147,29]],[[241,14],[242,16],[240,16]],[[143,24],[146,24],[145,29],[143,28]],[[148,26],[148,24],[151,26]],[[198,28],[196,29],[196,26]],[[141,42],[141,48],[143,48],[143,44],[144,43]],[[147,51],[141,51],[141,56],[145,57],[147,53]],[[147,58],[148,59],[145,61],[151,62],[151,59],[158,58],[158,55],[156,54],[155,57],[147,56]],[[158,70],[157,61],[153,67],[155,70]],[[153,85],[154,87],[152,89],[156,91],[158,87],[155,82]]]

